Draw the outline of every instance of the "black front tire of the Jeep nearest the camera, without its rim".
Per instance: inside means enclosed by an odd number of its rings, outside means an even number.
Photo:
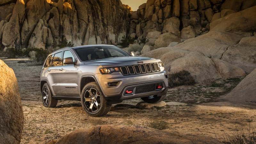
[[[90,88],[96,89],[100,93],[101,105],[100,105],[99,110],[96,113],[89,111],[84,104],[84,93],[86,92],[87,89],[90,89]],[[100,117],[100,116],[106,115],[110,111],[110,108],[111,108],[111,104],[107,103],[105,96],[101,92],[100,87],[98,86],[98,84],[96,82],[91,82],[84,86],[84,88],[81,92],[81,104],[82,104],[82,107],[84,108],[84,111],[89,116],[94,116],[94,117]]]

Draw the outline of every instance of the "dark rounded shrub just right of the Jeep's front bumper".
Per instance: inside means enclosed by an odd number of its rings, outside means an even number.
[[[180,85],[194,85],[196,83],[193,76],[186,70],[178,73],[169,74],[169,86],[175,87]]]

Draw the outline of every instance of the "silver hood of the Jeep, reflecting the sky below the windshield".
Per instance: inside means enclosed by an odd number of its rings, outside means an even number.
[[[106,58],[106,59],[99,59],[99,60],[91,60],[84,62],[85,65],[102,65],[104,66],[123,66],[126,63],[137,63],[137,61],[143,61],[147,63],[147,61],[152,61],[155,59],[147,58],[147,57],[114,57],[114,58]]]

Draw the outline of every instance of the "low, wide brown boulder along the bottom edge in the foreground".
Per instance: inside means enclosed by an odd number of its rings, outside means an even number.
[[[76,130],[51,144],[89,144],[89,143],[219,143],[213,138],[185,136],[153,128],[124,125],[102,125]]]

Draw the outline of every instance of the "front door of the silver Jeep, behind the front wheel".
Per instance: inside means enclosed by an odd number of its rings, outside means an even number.
[[[70,57],[73,59],[73,62],[76,61],[74,54],[70,50],[66,50],[63,52],[63,59],[70,58]],[[74,64],[72,65],[62,64],[59,70],[60,70],[59,76],[61,77],[60,95],[61,96],[80,96],[78,91],[76,66]]]

